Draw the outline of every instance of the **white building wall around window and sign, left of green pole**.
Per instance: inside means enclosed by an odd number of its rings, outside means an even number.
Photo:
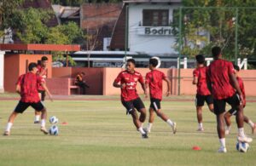
[[[173,9],[177,5],[163,4],[130,4],[129,5],[129,38],[130,51],[146,54],[177,54],[174,49],[176,38],[172,35],[142,35],[143,9],[169,9],[169,21],[172,21]],[[141,25],[141,26],[140,26]],[[170,28],[168,26],[163,26]],[[161,28],[161,27],[160,27]]]

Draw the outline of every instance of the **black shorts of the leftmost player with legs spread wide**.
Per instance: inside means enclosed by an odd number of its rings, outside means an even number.
[[[26,103],[26,102],[20,101],[18,103],[18,105],[15,107],[15,112],[23,113],[28,106],[32,106],[32,108],[38,112],[41,112],[44,110],[44,106],[41,103],[41,101],[39,101],[37,103]]]

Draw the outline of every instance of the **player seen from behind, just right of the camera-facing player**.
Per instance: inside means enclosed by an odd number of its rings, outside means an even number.
[[[166,77],[166,75],[163,72],[160,72],[156,70],[156,66],[158,65],[158,60],[151,58],[149,60],[149,70],[146,74],[146,89],[149,87],[149,94],[150,94],[150,107],[149,107],[149,120],[148,120],[148,127],[147,131],[150,133],[152,125],[154,123],[154,112],[158,117],[163,119],[167,124],[169,124],[172,127],[173,134],[176,133],[176,123],[172,122],[172,120],[164,114],[164,112],[160,111],[160,101],[162,100],[162,84],[163,80],[167,83],[167,93],[166,95],[169,96],[171,94],[171,83],[170,80]],[[147,90],[146,90],[147,92]],[[146,97],[148,97],[148,93],[146,94]]]

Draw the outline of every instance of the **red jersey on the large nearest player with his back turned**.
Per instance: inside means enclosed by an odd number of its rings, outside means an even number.
[[[212,94],[216,100],[223,100],[235,94],[230,84],[230,74],[234,74],[234,67],[230,61],[214,60],[207,69],[207,79],[212,83]]]

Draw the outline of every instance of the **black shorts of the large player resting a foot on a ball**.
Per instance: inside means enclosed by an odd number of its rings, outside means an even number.
[[[216,115],[222,114],[225,112],[226,103],[228,103],[235,110],[240,106],[240,97],[238,94],[234,94],[229,98],[223,100],[213,100],[214,113]]]

